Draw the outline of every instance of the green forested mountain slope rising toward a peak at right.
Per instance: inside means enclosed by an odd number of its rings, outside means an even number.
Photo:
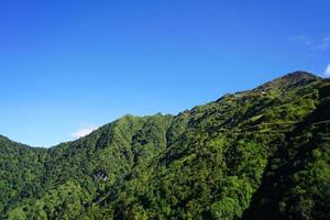
[[[330,219],[330,81],[295,72],[52,148],[0,136],[0,219]]]

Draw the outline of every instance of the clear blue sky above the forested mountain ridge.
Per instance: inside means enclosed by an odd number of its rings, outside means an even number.
[[[52,146],[330,64],[330,1],[1,1],[0,133]],[[328,68],[328,74],[330,68]]]

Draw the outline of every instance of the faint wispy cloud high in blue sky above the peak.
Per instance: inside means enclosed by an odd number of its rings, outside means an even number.
[[[289,40],[306,46],[310,51],[324,52],[330,48],[330,35],[322,38],[312,38],[309,35],[298,35],[293,36]]]

